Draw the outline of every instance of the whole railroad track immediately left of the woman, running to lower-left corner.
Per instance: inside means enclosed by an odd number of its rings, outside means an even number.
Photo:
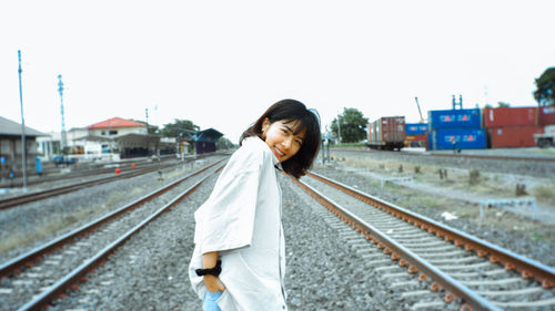
[[[79,282],[87,280],[88,272],[101,266],[133,234],[221,169],[222,162],[172,182],[0,266],[0,310],[40,310],[65,290],[75,289]]]

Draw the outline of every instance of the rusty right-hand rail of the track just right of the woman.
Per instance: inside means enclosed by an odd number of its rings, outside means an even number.
[[[414,214],[377,197],[364,194],[342,183],[332,182],[316,173],[311,172],[310,175],[327,185],[336,187],[344,193],[354,196],[364,203],[384,210],[398,219],[407,221],[408,224],[420,227],[423,230],[427,230],[430,234],[434,234],[437,237],[442,237],[446,241],[451,241],[458,247],[463,247],[467,251],[474,251],[478,257],[487,257],[491,262],[500,263],[501,266],[504,266],[506,270],[516,270],[524,279],[534,278],[536,281],[542,283],[544,289],[549,289],[555,286],[554,268],[467,235],[455,228],[451,228],[427,217]]]

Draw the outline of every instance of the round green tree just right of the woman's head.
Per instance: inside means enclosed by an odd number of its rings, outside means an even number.
[[[340,121],[337,126],[337,118]],[[342,143],[359,143],[366,137],[369,118],[356,108],[343,108],[343,113],[332,121],[332,133],[339,137],[341,132]]]

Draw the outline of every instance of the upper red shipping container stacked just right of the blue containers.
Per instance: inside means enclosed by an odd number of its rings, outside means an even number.
[[[537,107],[497,107],[482,112],[484,128],[537,125]]]

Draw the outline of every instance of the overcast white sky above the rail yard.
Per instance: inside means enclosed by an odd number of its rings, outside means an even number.
[[[0,115],[61,129],[120,116],[191,120],[236,143],[270,104],[304,102],[329,125],[498,101],[536,105],[555,65],[555,1],[2,1]],[[155,107],[158,106],[158,111]]]

